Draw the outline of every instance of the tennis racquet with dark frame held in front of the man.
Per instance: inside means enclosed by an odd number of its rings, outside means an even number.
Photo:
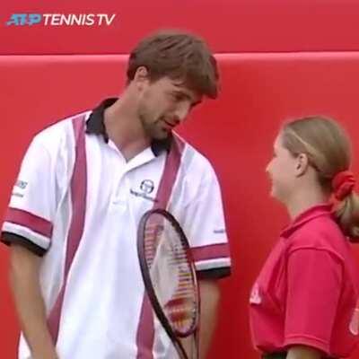
[[[197,359],[199,291],[194,260],[180,224],[163,209],[146,212],[138,226],[137,250],[157,319],[180,359]]]

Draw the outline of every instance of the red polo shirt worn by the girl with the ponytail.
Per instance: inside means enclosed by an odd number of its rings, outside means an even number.
[[[350,243],[320,205],[285,228],[250,295],[254,345],[304,345],[346,357],[358,342],[358,276]],[[356,309],[355,309],[356,308]]]

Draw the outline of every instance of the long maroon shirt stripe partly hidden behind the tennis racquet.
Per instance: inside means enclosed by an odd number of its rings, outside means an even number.
[[[153,208],[166,208],[171,197],[173,184],[180,170],[180,158],[185,144],[180,138],[173,136],[171,151],[167,155],[162,179],[157,191]],[[144,292],[140,320],[136,333],[136,359],[153,359],[154,323],[151,302]]]

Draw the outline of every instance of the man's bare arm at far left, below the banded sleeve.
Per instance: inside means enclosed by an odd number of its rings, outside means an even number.
[[[46,311],[39,287],[41,258],[13,244],[10,255],[10,285],[22,332],[33,359],[57,359],[50,337]]]

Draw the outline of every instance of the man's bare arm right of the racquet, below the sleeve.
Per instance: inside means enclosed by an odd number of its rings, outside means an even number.
[[[220,288],[215,279],[198,281],[201,296],[201,318],[199,327],[199,358],[205,359],[215,331]]]

